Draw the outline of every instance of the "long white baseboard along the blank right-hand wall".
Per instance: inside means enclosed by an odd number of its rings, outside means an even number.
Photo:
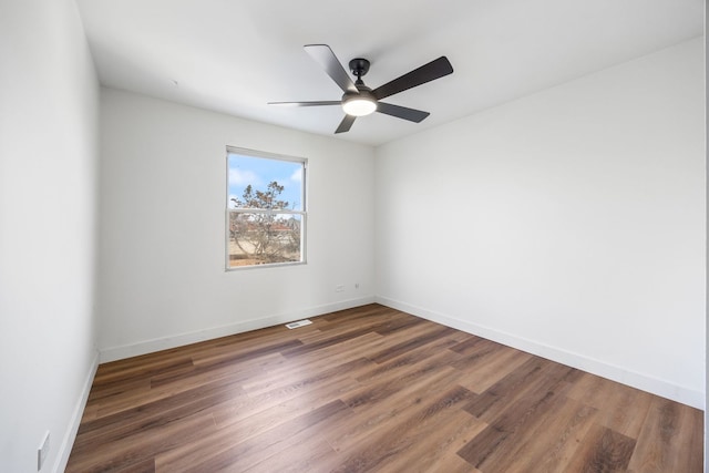
[[[619,383],[627,384],[666,399],[671,399],[672,401],[681,402],[682,404],[691,405],[692,408],[702,410],[705,409],[703,392],[699,392],[682,385],[677,385],[675,383],[653,378],[647,374],[629,371],[624,368],[608,364],[604,361],[588,358],[579,353],[562,350],[544,343],[538,343],[534,340],[528,340],[511,333],[499,331],[490,327],[480,326],[432,310],[428,310],[422,307],[401,302],[399,300],[377,296],[376,301],[378,304],[381,304],[382,306],[391,307],[393,309],[401,310],[436,323],[442,323],[446,327],[486,338],[489,340],[496,341],[499,343],[506,345],[522,351],[526,351],[527,353],[536,354],[542,358],[546,358],[548,360],[599,376],[602,378],[617,381]]]

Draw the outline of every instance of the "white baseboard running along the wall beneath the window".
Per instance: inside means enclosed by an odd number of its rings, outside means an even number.
[[[178,333],[168,337],[144,340],[137,343],[124,345],[121,347],[111,347],[101,350],[101,362],[122,360],[124,358],[137,357],[155,351],[167,350],[175,347],[182,347],[199,341],[212,340],[214,338],[227,337],[234,333],[242,333],[250,330],[273,327],[280,323],[288,323],[294,320],[306,317],[320,316],[322,313],[335,312],[338,310],[350,309],[352,307],[364,306],[374,302],[374,297],[361,297],[357,299],[348,299],[339,302],[327,304],[323,306],[310,307],[307,309],[294,310],[291,312],[263,317],[258,319],[244,320],[236,323],[229,323],[220,327],[213,327],[205,330],[197,330],[188,333]]]

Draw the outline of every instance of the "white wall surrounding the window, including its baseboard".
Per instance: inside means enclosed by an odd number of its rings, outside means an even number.
[[[370,147],[112,89],[101,110],[103,360],[373,301]],[[307,265],[225,271],[227,145],[309,160]]]

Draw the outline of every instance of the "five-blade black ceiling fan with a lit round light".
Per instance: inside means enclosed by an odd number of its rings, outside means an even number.
[[[339,101],[317,102],[269,102],[268,104],[295,106],[342,105],[342,110],[346,115],[335,133],[348,132],[352,127],[354,119],[358,116],[369,115],[373,112],[384,113],[410,122],[421,122],[430,115],[429,112],[408,109],[400,105],[392,105],[380,101],[390,95],[425,84],[427,82],[440,79],[453,72],[453,66],[450,61],[448,58],[442,55],[428,64],[423,64],[422,66],[372,90],[364,85],[364,82],[362,81],[362,76],[369,71],[370,64],[368,60],[356,58],[350,61],[350,71],[352,71],[352,74],[357,76],[357,80],[352,82],[329,45],[306,44],[304,48],[306,52],[310,54],[310,56],[322,66],[322,69],[325,69],[325,72],[335,81],[335,83],[342,89],[342,92],[345,92],[342,99]]]

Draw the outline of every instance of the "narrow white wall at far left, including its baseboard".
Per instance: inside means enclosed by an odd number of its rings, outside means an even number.
[[[63,471],[96,366],[99,85],[70,0],[0,2],[0,471]]]

